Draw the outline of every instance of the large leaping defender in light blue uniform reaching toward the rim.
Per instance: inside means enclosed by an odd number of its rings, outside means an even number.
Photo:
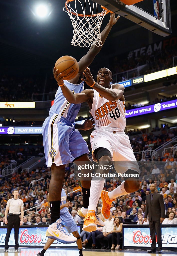
[[[115,14],[110,14],[110,19],[104,30],[101,32],[102,45],[92,45],[87,54],[78,62],[79,73],[70,81],[65,81],[65,85],[72,91],[73,94],[82,92],[84,89],[83,72],[86,67],[90,66],[95,56],[101,50],[112,26],[117,22]],[[53,74],[56,78],[57,70],[54,67]],[[57,79],[56,79],[57,80]],[[88,146],[77,129],[89,130],[92,126],[91,121],[85,121],[83,125],[73,124],[81,104],[69,103],[63,96],[61,86],[58,84],[54,104],[50,109],[49,117],[44,121],[42,126],[43,145],[46,157],[47,166],[51,167],[51,180],[49,185],[50,208],[51,208],[51,225],[47,229],[46,236],[65,243],[75,242],[76,239],[63,233],[62,221],[60,219],[60,203],[61,203],[61,188],[65,175],[65,164],[74,162],[80,164],[83,161],[92,162],[88,157]],[[89,102],[88,102],[89,104]],[[86,172],[83,170],[83,172]],[[90,196],[90,180],[81,179],[84,213],[87,213]],[[101,223],[104,226],[103,223]]]

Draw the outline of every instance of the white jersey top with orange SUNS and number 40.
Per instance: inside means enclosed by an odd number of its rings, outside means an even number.
[[[112,86],[111,88],[112,89]],[[109,101],[94,90],[90,113],[95,120],[95,129],[123,132],[126,126],[125,101]]]

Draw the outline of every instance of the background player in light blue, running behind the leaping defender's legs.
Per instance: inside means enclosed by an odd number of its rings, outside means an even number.
[[[73,203],[72,202],[67,202],[67,191],[64,190],[62,188],[61,191],[61,204],[60,204],[60,218],[61,220],[66,223],[65,228],[67,229],[67,231],[69,233],[72,233],[74,237],[77,238],[77,245],[78,245],[78,250],[79,250],[79,256],[83,256],[82,254],[82,240],[80,238],[79,232],[78,232],[78,227],[73,219],[73,217],[71,216],[71,214],[69,213],[69,209],[68,207],[72,207]],[[48,204],[49,204],[49,194],[48,194]],[[36,254],[36,256],[44,256],[45,252],[47,251],[47,249],[51,246],[51,244],[55,241],[55,239],[51,239],[48,238],[45,246],[43,247],[42,251],[38,254]]]

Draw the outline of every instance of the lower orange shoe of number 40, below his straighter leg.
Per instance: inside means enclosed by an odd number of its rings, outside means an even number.
[[[97,226],[96,226],[95,211],[89,210],[85,215],[84,225],[82,229],[88,232],[92,232],[96,230],[96,227]]]

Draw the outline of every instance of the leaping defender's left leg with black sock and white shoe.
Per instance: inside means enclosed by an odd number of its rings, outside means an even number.
[[[46,237],[59,242],[74,243],[74,239],[62,226],[60,219],[61,189],[65,175],[64,165],[51,166],[51,180],[49,185],[51,224],[46,231]]]

